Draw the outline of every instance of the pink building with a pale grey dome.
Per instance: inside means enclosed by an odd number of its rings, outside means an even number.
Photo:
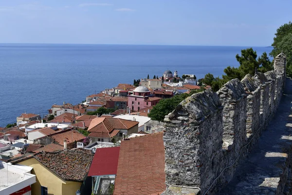
[[[128,95],[128,107],[132,111],[139,111],[149,106],[156,105],[160,99],[152,95],[148,88],[144,86],[137,87],[133,94]]]

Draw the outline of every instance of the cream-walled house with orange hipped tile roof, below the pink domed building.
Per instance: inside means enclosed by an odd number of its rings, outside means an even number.
[[[91,141],[105,141],[110,142],[114,137],[122,137],[124,133],[126,136],[132,133],[138,133],[137,121],[125,120],[121,118],[112,117],[98,117],[91,120],[88,128]]]

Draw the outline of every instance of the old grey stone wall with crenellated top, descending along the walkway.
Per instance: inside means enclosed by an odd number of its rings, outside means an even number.
[[[281,53],[274,71],[194,94],[165,116],[166,185],[199,187],[202,194],[224,187],[277,110],[285,73]]]

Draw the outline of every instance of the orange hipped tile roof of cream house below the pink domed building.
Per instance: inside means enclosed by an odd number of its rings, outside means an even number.
[[[121,118],[97,117],[92,119],[91,124],[88,128],[88,132],[94,132],[98,134],[91,133],[89,137],[110,138],[117,134],[112,133],[113,130],[130,129],[138,124],[138,121],[125,120]]]

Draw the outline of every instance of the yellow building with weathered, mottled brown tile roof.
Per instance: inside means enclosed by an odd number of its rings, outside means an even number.
[[[40,152],[12,162],[33,167],[31,195],[75,195],[87,175],[93,154],[88,150]],[[42,193],[43,192],[43,193]]]

